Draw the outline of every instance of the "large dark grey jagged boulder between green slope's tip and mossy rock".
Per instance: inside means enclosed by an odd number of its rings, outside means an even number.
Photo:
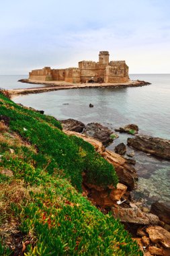
[[[113,136],[111,136],[113,131],[99,123],[88,123],[85,127],[84,133],[89,137],[93,137],[101,141],[104,146],[108,146],[114,140]],[[116,134],[114,135],[116,136]],[[118,135],[116,137],[118,137]]]

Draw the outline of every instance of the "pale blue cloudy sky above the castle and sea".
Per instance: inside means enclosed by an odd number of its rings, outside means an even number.
[[[0,75],[126,60],[129,73],[170,73],[169,0],[1,0]]]

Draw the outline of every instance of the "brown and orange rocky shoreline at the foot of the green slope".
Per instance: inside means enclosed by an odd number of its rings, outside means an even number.
[[[169,255],[170,205],[168,203],[156,202],[151,206],[151,210],[148,210],[140,207],[139,202],[133,201],[130,198],[130,191],[134,189],[136,180],[138,179],[136,169],[124,156],[107,150],[103,146],[103,143],[105,146],[108,145],[107,136],[111,138],[117,137],[115,133],[111,130],[108,131],[109,129],[107,127],[103,127],[97,123],[88,124],[87,131],[89,126],[91,127],[91,131],[87,133],[86,126],[79,121],[67,119],[61,122],[67,135],[76,135],[88,141],[103,158],[113,164],[120,180],[117,189],[110,188],[111,191],[108,196],[108,191],[105,191],[105,189],[101,187],[87,184],[84,177],[84,195],[93,201],[97,207],[100,207],[102,211],[107,211],[107,209],[110,208],[114,218],[119,218],[126,228],[132,232],[134,239],[137,241],[144,255]],[[137,125],[131,124],[126,125],[126,127],[120,127],[120,129],[116,129],[116,131],[136,135],[136,133],[138,133],[138,127]],[[134,141],[135,139],[138,140],[138,137],[140,138],[141,136],[136,135],[134,138],[129,138],[128,141],[130,141],[130,139],[134,139]],[[151,148],[150,145],[150,154],[153,153],[153,155],[158,156],[155,154],[155,151],[159,152],[159,148],[161,147],[161,155],[159,155],[159,157],[169,159],[167,152],[170,152],[170,141],[148,136],[142,137],[145,137],[148,141],[155,141],[155,143],[152,144],[153,148]],[[101,141],[103,143],[101,143]],[[112,142],[110,141],[109,143]],[[142,149],[139,147],[138,150]],[[124,153],[122,155],[124,155]],[[130,157],[132,156],[133,154]]]

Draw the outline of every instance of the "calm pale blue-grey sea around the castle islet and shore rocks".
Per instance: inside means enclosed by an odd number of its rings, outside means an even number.
[[[0,75],[0,88],[32,88],[42,85],[22,84],[27,75]],[[170,74],[131,74],[131,80],[144,80],[151,85],[134,88],[83,88],[42,94],[15,96],[13,101],[44,110],[56,119],[97,122],[116,129],[134,123],[139,133],[170,139]],[[89,104],[93,108],[89,108]],[[108,147],[113,150],[132,135],[119,134]],[[128,147],[128,152],[134,149]],[[154,201],[170,201],[170,162],[134,150],[138,173],[136,189],[131,197],[145,207]]]

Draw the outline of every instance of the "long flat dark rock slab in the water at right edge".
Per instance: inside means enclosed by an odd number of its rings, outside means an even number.
[[[128,145],[137,150],[170,159],[170,140],[168,139],[137,135],[134,138],[128,138]]]

